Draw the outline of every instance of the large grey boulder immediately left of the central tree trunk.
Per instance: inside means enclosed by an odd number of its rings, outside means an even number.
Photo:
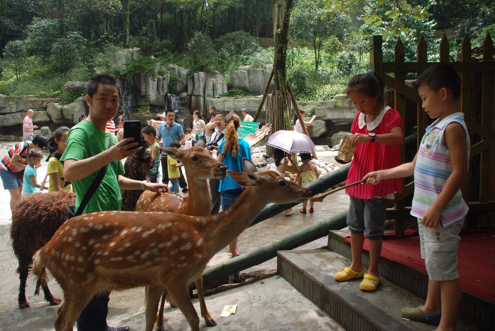
[[[252,95],[262,95],[272,69],[273,65],[271,64],[267,64],[263,68],[254,68],[252,66],[239,67],[232,75],[232,88],[244,90]],[[268,92],[272,90],[273,79]]]

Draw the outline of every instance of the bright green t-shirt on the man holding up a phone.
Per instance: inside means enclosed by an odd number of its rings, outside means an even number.
[[[110,137],[113,139],[113,144],[116,144],[117,138],[115,135],[110,132],[101,132],[90,121],[81,121],[70,129],[67,135],[67,147],[60,161],[63,162],[68,159],[84,160],[95,156],[108,149],[108,139]],[[76,189],[76,210],[99,171],[97,170],[88,177],[73,182]],[[122,174],[124,174],[122,161],[113,161],[108,164],[105,177],[103,177],[101,184],[88,202],[83,214],[121,209],[122,196],[120,195],[117,176]]]

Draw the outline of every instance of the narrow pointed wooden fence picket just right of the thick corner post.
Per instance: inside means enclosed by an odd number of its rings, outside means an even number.
[[[394,61],[395,62],[404,62],[404,45],[400,38],[397,38],[396,47],[394,49]],[[400,83],[404,83],[405,80],[405,72],[396,72],[396,80],[400,81]],[[394,108],[400,114],[402,118],[402,123],[405,125],[405,103],[406,97],[397,91],[395,91],[395,106]],[[402,130],[404,131],[404,130]],[[400,145],[400,164],[405,163],[405,144]],[[404,179],[402,178],[402,187],[404,187]],[[395,208],[402,209],[405,206],[404,200],[400,200],[396,202]],[[404,234],[404,219],[397,219],[395,225],[396,235]]]

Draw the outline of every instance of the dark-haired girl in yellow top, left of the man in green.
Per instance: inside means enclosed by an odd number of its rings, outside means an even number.
[[[72,185],[70,182],[65,182],[63,178],[63,166],[60,163],[60,157],[62,157],[65,147],[67,146],[67,134],[69,128],[59,127],[53,133],[53,137],[48,142],[48,149],[50,155],[47,158],[48,169],[47,175],[49,176],[49,192],[61,191],[64,189],[67,192],[72,192]],[[63,187],[62,187],[63,184]]]

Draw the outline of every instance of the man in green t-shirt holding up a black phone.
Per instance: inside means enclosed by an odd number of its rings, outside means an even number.
[[[168,188],[163,184],[140,182],[122,176],[122,159],[140,150],[138,142],[127,138],[117,143],[115,135],[106,129],[119,108],[121,84],[110,74],[97,74],[88,81],[86,102],[89,115],[74,126],[67,136],[67,147],[60,161],[66,181],[76,188],[76,209],[97,176],[99,169],[108,164],[101,184],[91,197],[83,214],[120,210],[120,189],[149,189],[161,193]],[[108,148],[109,139],[113,146]],[[129,327],[112,328],[106,325],[109,293],[96,295],[84,308],[77,320],[78,331],[128,331]]]

